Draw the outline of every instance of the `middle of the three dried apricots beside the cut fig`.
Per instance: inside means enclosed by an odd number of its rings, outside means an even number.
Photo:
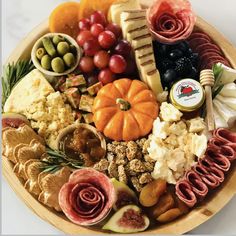
[[[175,201],[170,193],[164,193],[158,203],[152,208],[152,215],[157,218],[169,209],[173,208]]]

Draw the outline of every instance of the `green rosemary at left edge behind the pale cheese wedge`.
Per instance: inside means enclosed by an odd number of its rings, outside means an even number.
[[[3,67],[2,107],[9,97],[13,87],[33,69],[34,65],[30,60],[19,60]]]

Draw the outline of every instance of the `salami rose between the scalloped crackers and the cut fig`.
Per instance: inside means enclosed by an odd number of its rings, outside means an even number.
[[[115,202],[110,179],[92,169],[73,172],[59,193],[59,204],[65,215],[79,225],[94,225],[103,220]]]

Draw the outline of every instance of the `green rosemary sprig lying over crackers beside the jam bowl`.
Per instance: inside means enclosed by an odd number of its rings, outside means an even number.
[[[42,166],[43,172],[54,173],[64,166],[68,166],[73,169],[83,168],[84,162],[82,159],[75,160],[66,156],[63,152],[55,151],[51,148],[46,149],[47,156],[41,160],[44,164]]]

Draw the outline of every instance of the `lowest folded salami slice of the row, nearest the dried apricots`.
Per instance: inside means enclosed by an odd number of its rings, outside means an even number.
[[[180,180],[175,185],[176,195],[187,206],[193,207],[197,203],[197,197],[193,192],[192,186],[187,180]]]

